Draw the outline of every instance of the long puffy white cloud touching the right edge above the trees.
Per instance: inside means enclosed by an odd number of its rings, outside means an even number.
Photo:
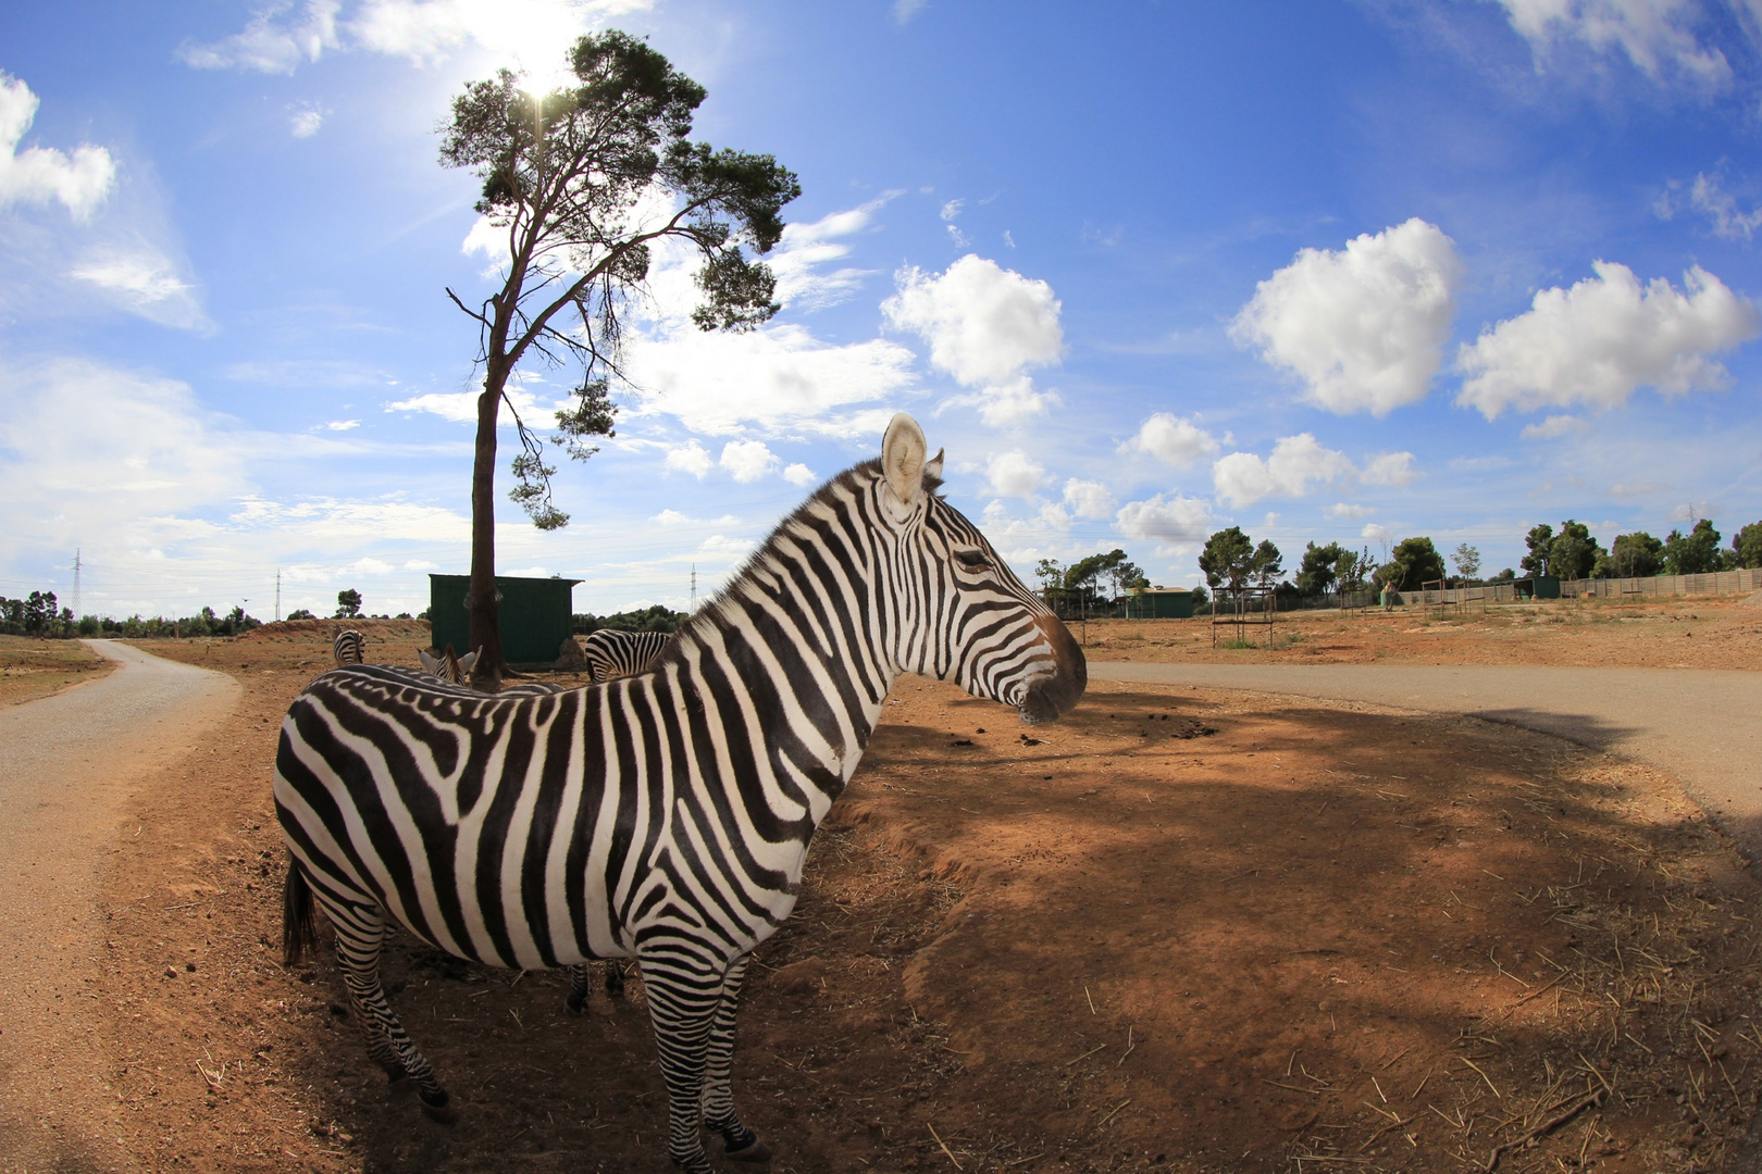
[[[1457,354],[1470,375],[1457,403],[1489,421],[1577,403],[1612,408],[1640,385],[1667,396],[1725,382],[1707,356],[1755,338],[1757,308],[1700,266],[1683,290],[1644,287],[1626,266],[1598,260],[1595,278],[1536,292],[1531,310],[1482,331]]]

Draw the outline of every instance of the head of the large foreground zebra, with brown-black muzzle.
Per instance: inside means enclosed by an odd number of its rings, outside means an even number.
[[[886,560],[895,664],[1015,706],[1027,723],[1052,722],[1084,695],[1084,653],[978,526],[937,495],[941,473],[943,454],[929,458],[918,422],[895,415],[874,484],[897,539]]]

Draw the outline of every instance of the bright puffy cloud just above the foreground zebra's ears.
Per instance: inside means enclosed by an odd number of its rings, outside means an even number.
[[[927,341],[930,364],[974,389],[960,401],[974,403],[987,424],[1015,424],[1057,401],[1027,375],[1064,354],[1061,306],[1048,283],[974,253],[941,275],[907,266],[895,283],[881,303],[888,326]]]

